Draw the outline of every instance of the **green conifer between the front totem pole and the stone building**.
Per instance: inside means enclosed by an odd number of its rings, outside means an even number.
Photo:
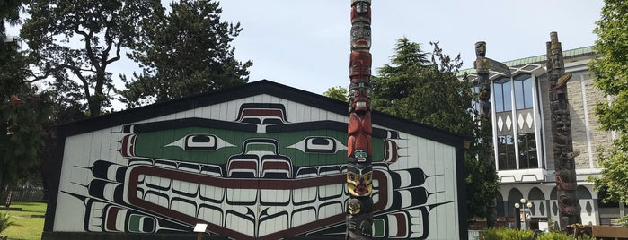
[[[485,207],[497,193],[494,164],[482,160],[490,156],[490,144],[481,141],[482,133],[473,117],[471,103],[473,82],[457,77],[462,61],[443,53],[438,43],[430,43],[431,54],[423,52],[420,44],[402,38],[397,40],[391,64],[379,69],[372,78],[373,108],[394,116],[410,119],[456,133],[472,141],[465,150],[467,167],[466,190],[469,217],[484,217]],[[430,59],[430,60],[428,60]],[[480,159],[480,160],[478,160]]]

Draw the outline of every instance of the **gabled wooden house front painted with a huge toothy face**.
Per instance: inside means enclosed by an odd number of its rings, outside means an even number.
[[[43,239],[343,238],[346,109],[255,81],[61,125]],[[372,136],[374,237],[466,239],[463,140],[381,113]]]

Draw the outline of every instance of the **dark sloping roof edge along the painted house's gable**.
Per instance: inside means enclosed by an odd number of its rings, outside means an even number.
[[[145,107],[132,108],[120,112],[114,112],[102,116],[93,116],[74,122],[58,125],[59,132],[65,136],[80,133],[89,133],[113,126],[131,124],[138,121],[166,116],[178,112],[206,107],[235,99],[243,99],[251,96],[268,94],[279,99],[287,99],[304,105],[316,107],[340,115],[349,115],[347,103],[336,99],[330,99],[323,95],[305,90],[292,88],[277,82],[261,80],[243,84],[226,90],[218,90],[211,93],[202,93],[181,99],[173,99],[166,102],[155,103]],[[447,131],[431,127],[425,124],[417,124],[400,117],[373,111],[373,124],[384,126],[392,130],[438,141],[447,145],[462,148],[464,138]]]

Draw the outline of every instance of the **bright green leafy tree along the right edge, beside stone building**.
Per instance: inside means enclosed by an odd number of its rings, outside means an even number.
[[[601,150],[602,175],[591,180],[597,191],[606,191],[602,201],[628,204],[628,2],[605,0],[596,24],[594,49],[602,57],[591,61],[589,67],[597,89],[612,96],[610,103],[597,104],[596,116],[601,128],[615,131],[617,138]],[[623,222],[628,225],[628,216]]]

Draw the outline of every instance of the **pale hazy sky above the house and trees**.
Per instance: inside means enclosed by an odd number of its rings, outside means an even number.
[[[253,61],[250,81],[267,79],[319,94],[349,85],[350,3],[220,1],[222,21],[242,25],[232,46],[238,60]],[[477,41],[486,41],[487,56],[497,61],[544,55],[551,31],[558,32],[563,50],[591,46],[603,4],[603,0],[372,0],[373,73],[389,63],[394,43],[402,37],[420,43],[426,52],[432,50],[430,41],[438,41],[446,54],[462,55],[464,68],[473,67]],[[9,33],[17,35],[17,30]],[[114,76],[138,71],[129,60],[116,62],[109,70]]]

